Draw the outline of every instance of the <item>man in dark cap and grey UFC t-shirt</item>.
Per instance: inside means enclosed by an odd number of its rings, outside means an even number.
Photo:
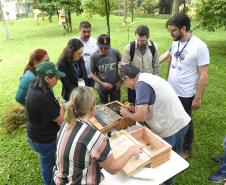
[[[121,80],[118,74],[118,63],[121,54],[115,48],[111,48],[110,37],[101,34],[97,45],[99,50],[91,56],[92,78],[96,82],[96,88],[100,97],[100,103],[120,100]]]

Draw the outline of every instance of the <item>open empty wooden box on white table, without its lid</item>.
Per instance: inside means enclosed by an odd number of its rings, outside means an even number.
[[[140,127],[130,132],[139,143],[152,154],[147,167],[157,167],[170,159],[172,146],[146,127]]]

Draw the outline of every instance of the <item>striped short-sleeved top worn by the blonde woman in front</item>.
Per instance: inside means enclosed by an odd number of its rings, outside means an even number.
[[[57,136],[54,181],[63,184],[99,184],[103,180],[99,162],[107,159],[110,143],[89,123],[77,120],[62,126]]]

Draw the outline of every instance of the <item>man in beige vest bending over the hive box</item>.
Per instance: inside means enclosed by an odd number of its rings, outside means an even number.
[[[123,83],[136,91],[135,108],[122,108],[120,114],[134,121],[144,121],[154,133],[172,145],[176,153],[188,129],[191,118],[185,112],[173,88],[163,78],[140,73],[131,65],[122,67]],[[172,179],[164,184],[172,185]]]

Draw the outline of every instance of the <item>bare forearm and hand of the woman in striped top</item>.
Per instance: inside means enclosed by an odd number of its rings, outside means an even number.
[[[123,168],[123,166],[128,162],[128,160],[134,156],[142,153],[142,146],[134,145],[131,146],[127,152],[122,154],[119,158],[115,159],[113,154],[111,154],[106,160],[100,162],[100,165],[110,174],[115,174]]]

